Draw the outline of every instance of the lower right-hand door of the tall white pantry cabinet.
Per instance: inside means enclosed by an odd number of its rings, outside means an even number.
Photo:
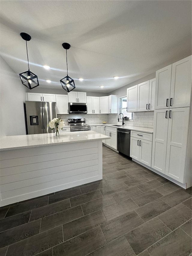
[[[190,107],[174,108],[169,111],[165,174],[183,183]]]

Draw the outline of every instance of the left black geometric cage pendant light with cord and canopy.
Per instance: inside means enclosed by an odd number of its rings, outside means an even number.
[[[27,48],[27,41],[31,40],[31,36],[28,35],[27,33],[20,33],[20,36],[22,37],[23,40],[26,41],[26,48]],[[27,51],[27,61],[28,61],[28,68],[29,68],[28,51]],[[29,88],[30,90],[39,86],[38,77],[34,73],[32,73],[30,70],[20,73],[19,76],[21,78],[22,84],[27,88]]]

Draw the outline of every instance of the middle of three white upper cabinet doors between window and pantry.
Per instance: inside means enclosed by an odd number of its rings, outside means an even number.
[[[149,81],[138,84],[137,111],[149,110]]]

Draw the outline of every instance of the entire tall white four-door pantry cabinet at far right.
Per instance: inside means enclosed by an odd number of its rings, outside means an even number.
[[[191,56],[156,72],[152,168],[191,186]],[[179,184],[178,183],[178,184]]]

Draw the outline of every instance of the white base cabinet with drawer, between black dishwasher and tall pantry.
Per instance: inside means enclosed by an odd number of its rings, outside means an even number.
[[[130,157],[151,167],[152,141],[131,137]]]

